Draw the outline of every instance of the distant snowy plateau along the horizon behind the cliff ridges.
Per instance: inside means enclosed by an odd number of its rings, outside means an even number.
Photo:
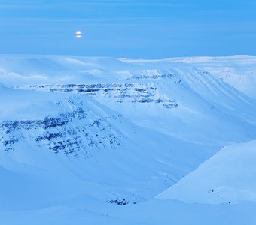
[[[256,98],[255,56],[187,57],[160,60],[71,57],[45,55],[0,55],[1,83],[66,84],[113,83],[139,74],[157,75],[173,68],[197,68],[224,80],[245,95]],[[146,72],[142,72],[146,71]],[[152,74],[153,73],[153,74]],[[157,73],[157,74],[155,74]],[[163,73],[165,74],[165,73]],[[159,74],[158,74],[159,75]],[[167,74],[166,74],[167,75]],[[154,76],[157,78],[156,76]],[[160,78],[160,77],[158,77]]]

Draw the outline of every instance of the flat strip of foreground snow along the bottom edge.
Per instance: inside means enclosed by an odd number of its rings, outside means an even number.
[[[158,200],[114,205],[81,199],[80,204],[59,205],[35,211],[0,212],[0,223],[11,224],[111,224],[111,225],[254,225],[254,202],[242,204],[185,204]]]

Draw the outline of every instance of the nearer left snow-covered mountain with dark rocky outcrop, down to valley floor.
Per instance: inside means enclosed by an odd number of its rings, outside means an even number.
[[[174,184],[217,149],[139,127],[87,95],[5,86],[1,95],[6,97],[1,102],[5,105],[0,123],[1,165],[4,174],[14,173],[14,178],[5,182],[8,189],[2,197],[17,194],[9,189],[12,185],[19,186],[18,193],[23,193],[15,203],[3,201],[1,208],[21,208],[23,204],[28,207],[30,201],[30,207],[35,207],[41,201],[52,204],[52,195],[62,200],[88,193],[102,201],[124,198],[127,202],[142,202]],[[184,151],[181,153],[180,149]],[[197,154],[199,157],[195,158]],[[29,181],[29,168],[36,179],[39,177],[36,183]],[[16,184],[16,175],[21,185]],[[38,187],[41,177],[46,179],[44,184],[51,184],[44,187],[50,188],[47,192]],[[56,182],[52,183],[52,179]],[[74,186],[66,186],[71,181]]]

